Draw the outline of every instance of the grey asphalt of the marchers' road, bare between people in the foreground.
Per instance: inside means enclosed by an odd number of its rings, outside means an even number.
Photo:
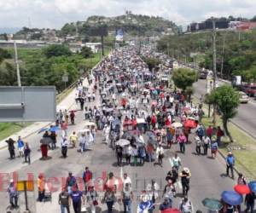
[[[96,96],[96,103],[90,103],[90,106],[98,105],[99,96]],[[79,108],[74,104],[73,108]],[[79,131],[84,127],[84,114],[83,112],[77,112],[76,124],[71,125],[68,128],[68,135],[73,131]],[[32,212],[37,213],[55,213],[60,212],[60,206],[57,202],[58,193],[61,190],[61,180],[67,177],[68,171],[73,171],[75,176],[81,177],[85,166],[89,166],[90,170],[94,172],[94,178],[97,181],[101,180],[104,176],[104,172],[112,171],[114,176],[122,176],[127,172],[128,176],[132,180],[132,188],[135,193],[135,197],[145,189],[148,182],[152,179],[157,181],[160,185],[160,190],[163,190],[166,181],[166,173],[171,170],[170,158],[177,152],[177,145],[174,145],[171,150],[166,150],[163,167],[155,165],[153,163],[146,163],[143,166],[123,165],[118,167],[116,164],[115,153],[112,149],[102,143],[103,135],[101,131],[96,133],[96,144],[92,145],[91,150],[86,153],[78,153],[76,149],[68,149],[68,157],[61,158],[61,149],[57,148],[54,151],[49,152],[51,157],[49,160],[42,161],[39,158],[41,153],[38,150],[39,140],[42,135],[31,135],[26,139],[32,146],[32,164],[23,164],[23,159],[16,158],[15,160],[9,160],[8,150],[0,151],[0,170],[2,173],[10,173],[16,171],[21,179],[26,179],[26,174],[32,173],[34,180],[37,180],[39,173],[49,178],[55,178],[54,186],[58,189],[57,192],[52,193],[52,202],[38,203],[37,192],[28,193],[28,203]],[[57,143],[60,147],[60,141]],[[177,152],[178,153],[178,152]],[[225,164],[223,158],[212,159],[209,156],[197,156],[195,155],[195,144],[189,144],[186,147],[186,154],[178,153],[182,159],[182,165],[189,167],[192,173],[190,182],[189,199],[192,201],[195,210],[207,210],[202,206],[201,200],[205,198],[219,199],[220,193],[224,190],[232,190],[235,185],[235,181],[229,177],[224,176]],[[62,178],[62,179],[61,179]],[[53,179],[51,179],[52,181]],[[3,184],[4,185],[4,184]],[[2,187],[4,187],[2,185]],[[37,187],[35,187],[37,188]],[[37,190],[36,190],[37,191]],[[181,200],[181,187],[177,187],[177,198],[173,201],[173,206],[178,207]],[[102,193],[100,193],[102,195]],[[160,192],[160,196],[162,192]],[[23,194],[20,194],[20,207],[24,208]],[[157,200],[156,203],[160,203]],[[0,193],[0,212],[6,212],[6,207],[9,204],[8,194],[3,191]],[[132,212],[136,212],[137,200],[132,203]],[[114,205],[115,210],[122,211],[122,205],[116,203]],[[159,206],[156,206],[155,212],[157,212]],[[98,212],[106,212],[106,204],[100,204],[97,208]],[[19,211],[13,211],[19,212]],[[22,212],[22,211],[20,211]],[[73,209],[72,209],[73,212]]]

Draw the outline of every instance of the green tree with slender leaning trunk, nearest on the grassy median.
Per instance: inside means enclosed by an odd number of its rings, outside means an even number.
[[[209,98],[210,102],[216,104],[218,110],[221,112],[225,134],[233,142],[232,135],[230,135],[230,131],[228,130],[228,122],[230,118],[236,116],[237,107],[240,104],[238,92],[230,85],[223,85],[212,90]]]

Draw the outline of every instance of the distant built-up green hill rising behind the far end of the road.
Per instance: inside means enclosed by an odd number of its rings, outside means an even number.
[[[177,26],[170,20],[142,14],[131,14],[127,11],[124,15],[116,17],[90,16],[86,21],[67,23],[61,28],[62,36],[88,35],[92,26],[108,26],[108,32],[114,33],[117,29],[123,29],[131,36],[153,36],[160,34],[172,34],[177,32]]]

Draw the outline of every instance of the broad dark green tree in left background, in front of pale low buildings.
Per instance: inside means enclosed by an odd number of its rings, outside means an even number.
[[[62,56],[62,55],[72,55],[72,52],[68,49],[66,45],[60,45],[60,44],[53,44],[49,45],[44,49],[44,55],[47,58],[53,57],[53,56]]]

